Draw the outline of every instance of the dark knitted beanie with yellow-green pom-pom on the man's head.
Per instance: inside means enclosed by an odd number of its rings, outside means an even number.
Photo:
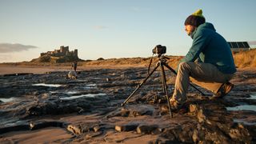
[[[188,18],[186,18],[186,21],[184,22],[184,25],[191,25],[191,26],[200,26],[202,23],[206,22],[206,18],[202,15],[202,10],[197,10],[193,14],[191,14]]]

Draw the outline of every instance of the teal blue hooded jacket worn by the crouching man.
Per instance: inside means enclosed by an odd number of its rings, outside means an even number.
[[[205,22],[191,35],[193,44],[182,62],[211,63],[224,74],[234,74],[234,58],[230,46],[220,34],[214,29],[214,25]]]

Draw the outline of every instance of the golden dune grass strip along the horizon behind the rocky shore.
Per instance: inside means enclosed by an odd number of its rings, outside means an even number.
[[[256,49],[248,51],[240,51],[234,53],[234,63],[237,67],[256,67]],[[173,69],[176,69],[178,62],[182,59],[182,56],[166,56],[170,58],[167,63]],[[152,65],[158,61],[158,58],[154,57]],[[148,58],[109,58],[98,60],[86,60],[85,62],[78,62],[78,66],[136,66],[145,67],[150,63],[150,57]],[[6,62],[0,63],[0,66],[71,66],[72,62]]]

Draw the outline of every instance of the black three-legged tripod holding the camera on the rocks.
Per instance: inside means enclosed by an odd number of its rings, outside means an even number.
[[[122,102],[122,105],[121,106],[125,106],[126,105],[126,102],[129,101],[129,99],[135,94],[135,92],[146,82],[146,80],[148,78],[150,78],[150,76],[154,73],[155,70],[158,69],[158,67],[160,66],[161,67],[161,72],[162,72],[162,87],[163,87],[163,91],[164,93],[166,94],[166,101],[168,103],[168,106],[169,106],[169,112],[170,112],[170,115],[171,117],[173,117],[173,114],[172,114],[172,111],[171,111],[171,108],[170,108],[170,101],[169,101],[169,98],[168,98],[168,90],[167,90],[167,86],[166,86],[166,73],[165,73],[165,70],[164,70],[164,66],[166,66],[171,72],[173,72],[174,74],[177,75],[176,71],[174,69],[172,69],[170,66],[167,65],[166,63],[166,59],[170,59],[170,58],[167,58],[165,57],[164,55],[162,54],[158,54],[158,62],[156,63],[156,66],[154,67],[154,69],[150,72],[150,74],[148,74],[148,76],[137,86],[137,88],[134,90],[134,92],[132,94],[130,94],[130,96],[128,98],[126,98],[126,100],[124,102]],[[195,90],[198,90],[197,87],[195,87],[194,85],[192,85],[190,83],[190,86],[194,87]],[[202,95],[205,95],[202,93],[202,91],[198,90]]]

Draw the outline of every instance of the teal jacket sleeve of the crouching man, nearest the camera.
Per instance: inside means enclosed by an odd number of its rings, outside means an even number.
[[[186,54],[186,57],[182,59],[182,62],[194,62],[199,58],[199,54],[206,47],[208,36],[204,34],[198,34],[190,47],[189,52]]]

